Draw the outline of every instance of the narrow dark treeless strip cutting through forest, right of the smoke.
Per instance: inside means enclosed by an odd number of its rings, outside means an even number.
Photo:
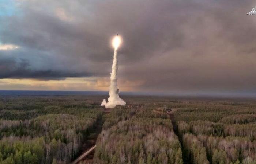
[[[185,151],[184,151],[184,147],[182,145],[182,136],[179,135],[178,133],[178,127],[176,125],[176,120],[175,120],[175,116],[174,116],[174,111],[168,113],[169,114],[169,118],[172,121],[172,126],[173,126],[173,132],[176,134],[176,136],[178,136],[180,144],[181,144],[181,151],[182,151],[182,159],[183,159],[183,163],[184,164],[190,164],[189,159],[187,159],[185,157]]]

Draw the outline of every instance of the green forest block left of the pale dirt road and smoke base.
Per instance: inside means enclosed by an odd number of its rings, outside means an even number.
[[[68,163],[101,117],[81,97],[0,98],[0,164]]]

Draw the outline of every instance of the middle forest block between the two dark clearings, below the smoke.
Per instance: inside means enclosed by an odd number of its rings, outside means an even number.
[[[94,155],[97,164],[183,164],[178,137],[162,108],[150,100],[106,115]]]

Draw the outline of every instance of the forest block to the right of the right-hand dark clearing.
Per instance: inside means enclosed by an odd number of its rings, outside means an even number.
[[[256,164],[254,102],[192,101],[175,116],[190,163]]]

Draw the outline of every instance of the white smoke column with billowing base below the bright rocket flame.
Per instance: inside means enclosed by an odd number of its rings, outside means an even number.
[[[108,102],[103,99],[101,106],[105,105],[105,108],[114,108],[116,105],[125,105],[125,101],[121,99],[118,95],[119,89],[117,88],[117,70],[118,70],[118,60],[117,60],[117,49],[118,46],[115,47],[114,50],[114,58],[112,65],[112,73],[110,75],[110,87],[109,87],[109,98]]]

